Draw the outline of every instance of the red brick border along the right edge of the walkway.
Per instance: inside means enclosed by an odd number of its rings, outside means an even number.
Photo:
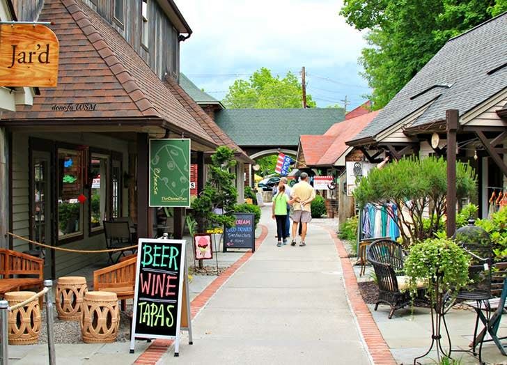
[[[325,229],[327,229],[329,235],[331,235],[331,238],[334,240],[336,250],[338,251],[350,307],[352,313],[354,313],[356,317],[359,329],[361,329],[361,336],[364,339],[364,343],[366,343],[373,363],[375,365],[396,365],[396,361],[389,350],[389,346],[384,340],[384,337],[382,337],[377,323],[375,323],[363,297],[361,297],[359,286],[357,286],[356,274],[354,274],[354,268],[352,267],[352,263],[350,263],[348,253],[345,247],[343,247],[343,243],[332,228],[325,227]]]

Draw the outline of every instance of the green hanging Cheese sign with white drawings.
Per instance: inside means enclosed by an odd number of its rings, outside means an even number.
[[[150,207],[190,206],[190,139],[150,139]]]

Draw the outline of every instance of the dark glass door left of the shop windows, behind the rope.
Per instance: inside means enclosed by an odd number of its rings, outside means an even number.
[[[31,203],[31,238],[45,244],[52,244],[51,231],[51,181],[49,166],[51,155],[49,152],[33,151],[32,153],[32,203]],[[44,277],[52,277],[52,252],[44,247],[40,249],[41,258],[44,258]]]

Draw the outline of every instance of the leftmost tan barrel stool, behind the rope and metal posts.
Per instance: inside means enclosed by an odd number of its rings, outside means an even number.
[[[5,294],[9,306],[24,302],[36,293],[33,291],[15,291]],[[33,300],[13,311],[8,319],[9,345],[31,345],[38,343],[40,332],[39,301]]]

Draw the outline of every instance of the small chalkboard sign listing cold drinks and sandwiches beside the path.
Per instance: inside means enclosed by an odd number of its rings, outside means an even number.
[[[236,225],[224,230],[224,252],[227,249],[256,251],[255,216],[253,213],[234,213]]]

